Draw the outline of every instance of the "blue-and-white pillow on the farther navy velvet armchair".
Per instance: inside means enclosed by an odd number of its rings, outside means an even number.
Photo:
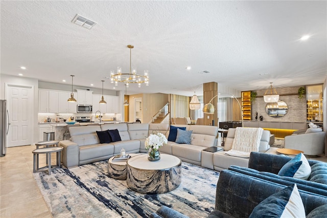
[[[278,172],[278,176],[293,177],[307,180],[311,173],[311,166],[305,155],[302,153],[296,155],[292,160],[287,162]]]

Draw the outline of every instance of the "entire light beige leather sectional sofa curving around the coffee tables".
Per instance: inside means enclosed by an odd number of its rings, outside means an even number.
[[[164,154],[174,155],[182,161],[221,171],[230,165],[247,167],[248,158],[225,155],[231,148],[235,128],[229,128],[223,151],[208,152],[205,148],[217,146],[217,126],[174,125],[192,130],[191,144],[178,144],[169,141],[159,148]],[[107,160],[118,155],[124,148],[127,153],[147,152],[144,143],[150,134],[162,133],[169,136],[169,124],[155,123],[119,123],[94,126],[77,126],[69,128],[71,141],[59,142],[63,147],[61,160],[64,166],[74,167],[82,164]],[[101,144],[96,131],[118,129],[122,141]],[[275,147],[269,146],[270,132],[263,130],[260,141],[260,152],[276,154]]]

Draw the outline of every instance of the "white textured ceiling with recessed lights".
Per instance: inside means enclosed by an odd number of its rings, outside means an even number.
[[[73,24],[77,13],[97,24]],[[326,1],[1,1],[1,73],[68,84],[74,74],[74,84],[101,89],[110,70],[129,71],[131,44],[150,85],[129,94],[201,95],[211,81],[239,91],[322,83],[326,14]]]

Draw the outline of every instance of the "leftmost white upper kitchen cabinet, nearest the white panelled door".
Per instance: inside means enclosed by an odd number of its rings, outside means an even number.
[[[58,113],[59,93],[53,90],[39,89],[39,113]]]

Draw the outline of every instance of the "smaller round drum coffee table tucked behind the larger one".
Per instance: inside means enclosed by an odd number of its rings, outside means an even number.
[[[139,154],[128,154],[132,157],[137,156]],[[116,179],[116,180],[126,180],[127,178],[127,170],[126,170],[126,162],[127,161],[112,161],[114,158],[111,157],[108,160],[108,176]]]

